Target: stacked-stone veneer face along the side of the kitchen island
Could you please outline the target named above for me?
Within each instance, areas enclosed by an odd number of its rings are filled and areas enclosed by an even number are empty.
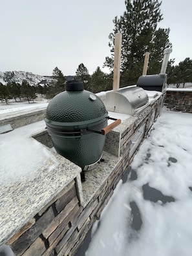
[[[76,255],[87,232],[94,221],[100,218],[101,211],[105,208],[116,185],[138,150],[137,148],[131,158],[129,157],[131,138],[145,123],[142,138],[144,140],[152,123],[160,114],[163,98],[161,96],[151,105],[150,111],[141,122],[133,118],[129,127],[119,135],[120,150],[114,152],[114,155],[120,156],[120,161],[87,205],[84,207],[81,205],[76,179],[72,180],[47,206],[6,242],[16,255]],[[112,136],[115,135],[112,132]],[[109,140],[110,136],[109,133]]]

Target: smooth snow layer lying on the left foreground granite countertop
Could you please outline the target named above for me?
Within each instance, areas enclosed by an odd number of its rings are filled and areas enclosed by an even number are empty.
[[[45,122],[40,121],[0,134],[0,182],[16,181],[21,176],[32,175],[47,161],[57,160],[41,143],[32,138],[41,133]]]

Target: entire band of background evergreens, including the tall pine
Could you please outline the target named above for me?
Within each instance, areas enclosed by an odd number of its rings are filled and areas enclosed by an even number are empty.
[[[85,90],[94,93],[112,89],[112,69],[114,63],[114,37],[115,34],[122,33],[122,54],[120,68],[120,87],[134,85],[138,77],[142,74],[145,52],[150,53],[147,74],[159,74],[164,58],[164,49],[173,47],[169,41],[169,28],[160,28],[159,23],[163,16],[160,10],[162,2],[158,0],[125,0],[125,12],[120,17],[114,17],[114,29],[109,34],[109,47],[111,56],[105,58],[103,67],[108,67],[110,72],[102,72],[100,67],[89,74],[89,70],[83,63],[78,66],[74,79],[83,81]],[[184,59],[178,65],[174,65],[175,60],[171,59],[167,67],[167,83],[191,82],[190,58]],[[23,81],[22,85],[0,85],[0,99],[18,95],[29,100],[34,100],[35,92],[45,94],[48,99],[52,98],[64,90],[67,76],[56,67],[52,73],[53,81],[44,87],[28,87]],[[16,86],[19,88],[16,90]],[[18,97],[18,96],[17,96]]]

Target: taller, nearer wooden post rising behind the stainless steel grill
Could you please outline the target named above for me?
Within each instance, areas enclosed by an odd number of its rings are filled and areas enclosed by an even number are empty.
[[[114,91],[120,88],[120,62],[122,51],[122,34],[116,33],[114,36],[114,71],[113,71],[113,87]]]

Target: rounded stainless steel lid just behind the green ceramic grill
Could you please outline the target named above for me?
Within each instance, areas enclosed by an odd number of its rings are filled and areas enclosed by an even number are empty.
[[[148,95],[140,87],[125,87],[106,93],[107,111],[133,115],[147,105],[149,105]]]

